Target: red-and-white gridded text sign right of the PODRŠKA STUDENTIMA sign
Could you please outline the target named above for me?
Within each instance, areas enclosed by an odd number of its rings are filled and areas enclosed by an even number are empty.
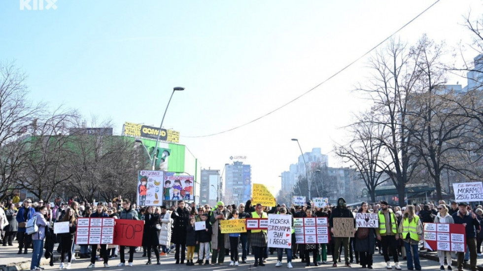
[[[319,243],[330,241],[327,217],[294,218],[295,242],[299,244]]]

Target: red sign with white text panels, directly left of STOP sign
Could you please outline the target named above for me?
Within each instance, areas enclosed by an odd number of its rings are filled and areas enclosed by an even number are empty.
[[[58,223],[59,222],[55,224],[58,224]],[[63,222],[60,222],[60,223],[63,223]],[[55,227],[55,224],[54,224],[54,227]],[[67,224],[67,228],[69,228],[69,224]],[[114,237],[114,218],[81,217],[77,219],[77,230],[75,234],[76,244],[112,244],[113,237]]]

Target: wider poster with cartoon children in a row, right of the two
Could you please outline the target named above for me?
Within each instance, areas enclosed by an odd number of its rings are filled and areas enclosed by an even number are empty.
[[[166,172],[164,176],[163,199],[165,201],[194,200],[194,179],[194,176],[179,176],[173,175],[173,172]]]

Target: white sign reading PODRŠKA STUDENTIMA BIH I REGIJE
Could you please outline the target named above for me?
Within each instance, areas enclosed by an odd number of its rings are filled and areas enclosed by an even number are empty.
[[[291,248],[292,216],[286,214],[268,215],[268,246]]]

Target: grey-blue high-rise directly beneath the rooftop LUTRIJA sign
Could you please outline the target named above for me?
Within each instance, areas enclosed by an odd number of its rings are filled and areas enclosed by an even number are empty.
[[[225,166],[225,194],[226,204],[245,203],[251,198],[251,166],[236,161],[233,165]]]

